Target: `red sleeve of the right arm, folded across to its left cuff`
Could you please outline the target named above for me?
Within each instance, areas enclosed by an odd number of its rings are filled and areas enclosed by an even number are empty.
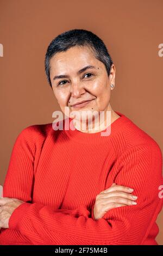
[[[111,209],[95,220],[93,207],[53,211],[25,202],[12,213],[9,228],[19,230],[35,245],[141,245],[162,208],[161,167],[156,143],[130,148],[116,161],[107,182],[114,178],[116,184],[134,188],[137,205]]]

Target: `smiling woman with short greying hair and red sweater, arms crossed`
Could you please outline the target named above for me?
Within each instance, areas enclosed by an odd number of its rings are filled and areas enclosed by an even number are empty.
[[[83,29],[62,33],[45,69],[68,118],[18,135],[0,199],[1,244],[157,245],[161,150],[112,109],[115,66],[103,41]]]

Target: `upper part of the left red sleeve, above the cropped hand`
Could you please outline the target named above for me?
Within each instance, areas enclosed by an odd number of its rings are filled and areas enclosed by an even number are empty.
[[[33,126],[23,129],[12,148],[7,175],[3,186],[3,197],[12,197],[30,202],[34,184],[35,143]]]

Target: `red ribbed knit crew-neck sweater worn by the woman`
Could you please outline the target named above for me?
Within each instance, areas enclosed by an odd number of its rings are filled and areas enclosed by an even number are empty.
[[[23,200],[2,229],[1,245],[158,245],[162,208],[159,145],[120,112],[111,134],[23,129],[12,149],[3,197]],[[64,125],[70,118],[64,120]],[[137,205],[95,220],[97,194],[113,182],[134,188]]]

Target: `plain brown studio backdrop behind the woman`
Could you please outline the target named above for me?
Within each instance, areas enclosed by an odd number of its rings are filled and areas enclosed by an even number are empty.
[[[60,109],[43,62],[49,42],[74,28],[92,31],[108,47],[116,66],[112,108],[163,148],[162,9],[162,0],[0,0],[1,185],[18,133],[32,124],[53,122],[53,111]],[[162,217],[163,210],[157,220],[160,245]]]

